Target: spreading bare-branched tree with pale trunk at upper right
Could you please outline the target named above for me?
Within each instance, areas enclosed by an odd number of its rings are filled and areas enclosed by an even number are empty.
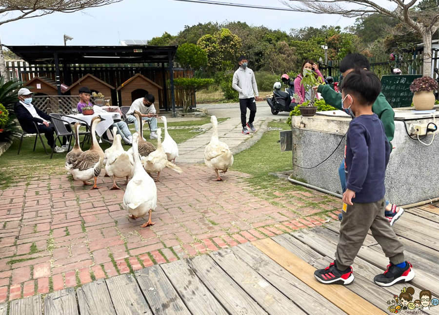
[[[432,37],[439,29],[437,0],[388,0],[393,8],[379,5],[379,0],[280,0],[296,12],[338,14],[348,18],[382,14],[399,20],[407,29],[415,30],[424,42],[423,75],[431,76]]]

